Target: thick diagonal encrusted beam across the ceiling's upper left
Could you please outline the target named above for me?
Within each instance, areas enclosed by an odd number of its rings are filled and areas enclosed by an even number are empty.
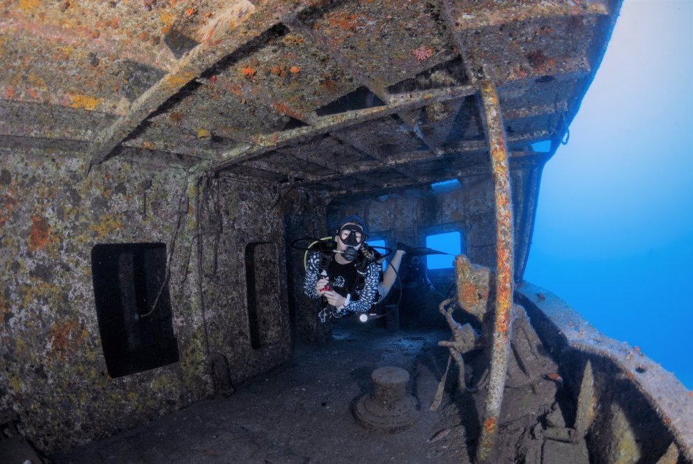
[[[205,41],[180,58],[163,79],[132,103],[127,115],[118,118],[96,138],[95,145],[90,150],[90,166],[109,159],[114,149],[130,136],[132,131],[202,72],[221,58],[258,38],[282,17],[295,14],[295,5],[290,1],[268,0],[256,3],[261,3],[263,8],[253,6],[245,0],[236,0],[212,19],[206,28]],[[235,24],[233,29],[228,28],[231,18]]]

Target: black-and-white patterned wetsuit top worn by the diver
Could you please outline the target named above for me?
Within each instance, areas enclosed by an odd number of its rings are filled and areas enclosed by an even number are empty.
[[[303,282],[303,290],[311,298],[320,298],[316,290],[316,282],[320,280],[318,265],[320,264],[320,252],[311,253],[306,266],[306,280]],[[341,296],[351,294],[351,301],[345,310],[353,312],[367,312],[371,306],[377,303],[377,285],[379,282],[380,266],[376,262],[368,263],[366,275],[361,280],[362,285],[355,285],[359,280],[356,271],[357,262],[339,264],[332,259],[325,271],[329,278],[329,285]]]

